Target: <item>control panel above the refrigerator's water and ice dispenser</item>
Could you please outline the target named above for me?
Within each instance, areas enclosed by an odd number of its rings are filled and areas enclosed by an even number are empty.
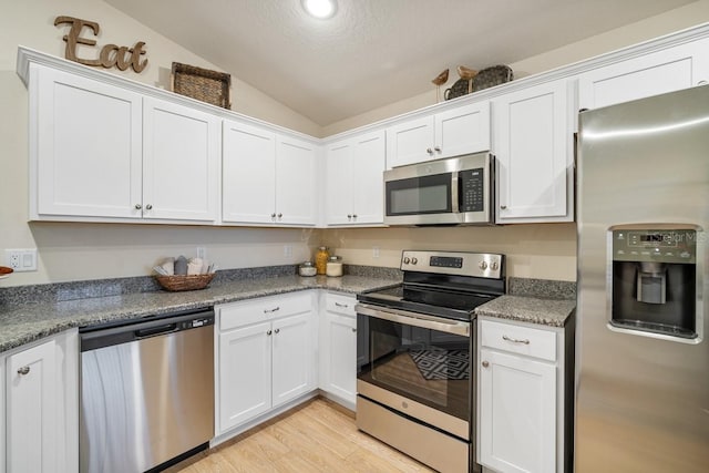
[[[697,261],[697,238],[693,229],[614,229],[613,259],[616,261]]]

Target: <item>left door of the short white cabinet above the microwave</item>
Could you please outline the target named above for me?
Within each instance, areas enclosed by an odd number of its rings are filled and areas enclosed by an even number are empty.
[[[433,116],[411,120],[387,130],[387,168],[433,160]]]

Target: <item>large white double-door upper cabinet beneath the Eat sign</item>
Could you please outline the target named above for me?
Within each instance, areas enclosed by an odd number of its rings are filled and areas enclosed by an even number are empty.
[[[217,117],[63,71],[32,71],[32,219],[217,218]]]

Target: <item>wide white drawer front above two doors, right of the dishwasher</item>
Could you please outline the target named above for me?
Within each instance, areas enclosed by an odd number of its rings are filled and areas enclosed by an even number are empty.
[[[312,310],[310,291],[226,304],[218,307],[219,330],[229,330],[310,310]]]

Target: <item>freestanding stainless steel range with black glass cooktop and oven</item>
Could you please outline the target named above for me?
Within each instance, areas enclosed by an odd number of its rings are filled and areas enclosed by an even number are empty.
[[[441,472],[475,463],[475,307],[503,255],[402,253],[403,284],[357,296],[357,426]]]

